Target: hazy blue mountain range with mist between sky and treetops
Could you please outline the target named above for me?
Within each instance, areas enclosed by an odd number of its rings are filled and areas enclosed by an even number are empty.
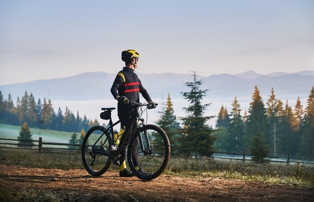
[[[182,98],[181,92],[189,89],[185,82],[192,82],[191,74],[136,73],[144,88],[152,98],[161,98],[162,95],[171,94],[172,98]],[[95,100],[111,99],[110,88],[116,74],[105,72],[86,72],[71,77],[37,80],[26,83],[17,83],[0,86],[5,99],[11,93],[13,99],[22,97],[27,90],[35,98],[50,98],[51,100]],[[255,85],[262,96],[268,96],[271,87],[276,96],[291,97],[307,96],[314,86],[314,71],[301,71],[296,73],[275,72],[267,75],[253,71],[241,74],[219,74],[211,76],[198,75],[202,79],[202,89],[209,89],[208,98],[224,99],[237,97],[250,98]]]

